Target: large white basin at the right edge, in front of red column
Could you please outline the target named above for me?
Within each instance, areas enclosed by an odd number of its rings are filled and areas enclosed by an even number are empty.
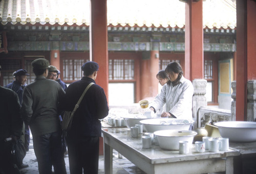
[[[215,123],[223,138],[230,141],[256,141],[256,122],[252,121],[222,121]]]

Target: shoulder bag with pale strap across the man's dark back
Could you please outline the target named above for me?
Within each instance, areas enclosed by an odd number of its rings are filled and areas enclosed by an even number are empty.
[[[80,102],[82,101],[82,98],[84,96],[84,94],[86,94],[87,90],[91,87],[91,85],[93,85],[94,83],[91,82],[87,88],[83,91],[81,97],[79,98],[78,102],[76,103],[75,107],[74,107],[74,110],[73,111],[65,111],[64,112],[64,115],[63,115],[63,120],[62,120],[62,123],[61,123],[61,128],[62,130],[66,130],[68,131],[70,128],[71,128],[71,125],[72,125],[72,120],[73,120],[73,117],[74,117],[74,114],[77,110],[77,108],[79,107],[79,104]]]

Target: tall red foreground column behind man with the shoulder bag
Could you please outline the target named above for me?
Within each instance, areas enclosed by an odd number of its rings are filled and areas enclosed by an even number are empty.
[[[109,56],[106,0],[91,0],[90,60],[99,64],[96,83],[109,98]]]

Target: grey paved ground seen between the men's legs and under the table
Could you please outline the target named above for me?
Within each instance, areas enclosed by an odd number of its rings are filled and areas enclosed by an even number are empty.
[[[67,173],[70,174],[69,171],[69,158],[65,156],[66,169]],[[25,156],[23,163],[28,164],[28,168],[23,168],[20,170],[22,174],[38,174],[38,165],[37,160],[34,154],[33,143],[30,140],[29,151]],[[104,173],[104,157],[99,157],[99,174]],[[118,152],[113,150],[113,173],[114,174],[144,174],[142,170],[140,170],[137,166],[131,163],[126,158],[118,158]]]

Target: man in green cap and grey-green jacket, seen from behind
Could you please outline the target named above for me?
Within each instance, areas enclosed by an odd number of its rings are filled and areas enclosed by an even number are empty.
[[[47,79],[49,61],[44,58],[32,62],[35,81],[24,88],[20,113],[29,124],[40,174],[66,174],[61,149],[61,128],[58,104],[65,95],[55,80]]]

